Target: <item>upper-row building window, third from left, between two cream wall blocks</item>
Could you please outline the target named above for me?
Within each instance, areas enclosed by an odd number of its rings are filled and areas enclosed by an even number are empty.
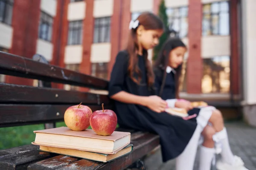
[[[78,45],[82,43],[83,37],[83,22],[79,21],[70,21],[68,28],[68,45]]]

